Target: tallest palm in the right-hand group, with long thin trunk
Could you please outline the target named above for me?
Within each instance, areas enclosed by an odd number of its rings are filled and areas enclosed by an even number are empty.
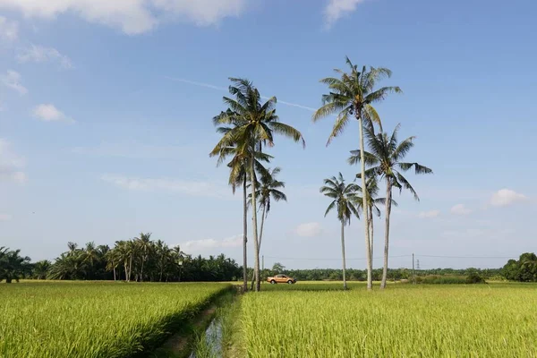
[[[350,72],[336,69],[334,71],[337,72],[337,75],[340,76],[340,78],[328,77],[320,80],[322,83],[328,85],[329,93],[322,96],[323,106],[313,114],[312,119],[313,122],[317,122],[320,118],[337,114],[336,124],[334,124],[332,132],[328,137],[328,145],[330,141],[344,132],[345,126],[354,116],[354,118],[358,120],[358,127],[360,129],[360,149],[363,151],[363,122],[365,122],[368,127],[372,126],[373,123],[380,125],[379,115],[372,105],[384,99],[389,92],[400,92],[401,90],[398,87],[382,87],[379,90],[375,90],[378,81],[391,76],[391,71],[387,68],[370,67],[367,69],[363,66],[362,71],[360,72],[358,66],[353,64],[348,57],[346,57],[346,64],[349,65]],[[362,163],[363,161],[364,159],[362,158]],[[362,165],[362,188],[366,187],[364,172],[365,166]],[[364,192],[362,197],[362,208],[365,218],[364,232],[367,257],[367,288],[371,290],[372,263],[369,239],[369,215],[367,212],[367,192]]]

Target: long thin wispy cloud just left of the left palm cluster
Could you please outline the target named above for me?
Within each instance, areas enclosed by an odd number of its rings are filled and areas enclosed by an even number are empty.
[[[231,191],[215,183],[189,182],[175,179],[130,178],[123,175],[102,175],[101,179],[122,189],[141,192],[175,192],[192,196],[231,198]]]

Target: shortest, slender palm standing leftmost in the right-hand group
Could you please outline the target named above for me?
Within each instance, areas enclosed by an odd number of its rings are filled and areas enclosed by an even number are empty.
[[[355,183],[345,184],[345,179],[341,173],[339,173],[338,177],[332,176],[330,179],[325,179],[324,186],[320,187],[320,192],[333,199],[328,205],[325,217],[332,209],[337,208],[337,219],[341,222],[341,256],[343,259],[343,288],[345,290],[347,288],[345,277],[345,225],[351,223],[351,217],[359,217],[358,209],[354,205],[359,199],[358,190],[359,187]]]

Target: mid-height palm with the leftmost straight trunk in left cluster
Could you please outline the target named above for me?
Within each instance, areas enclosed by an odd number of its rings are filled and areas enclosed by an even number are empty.
[[[228,112],[231,114],[231,110],[228,109]],[[231,131],[231,128],[223,126],[218,127],[217,132],[226,134],[226,132]],[[214,157],[216,154],[210,153],[210,157]],[[251,158],[248,148],[241,148],[238,145],[234,144],[220,149],[218,152],[218,161],[217,166],[222,164],[227,157],[233,157],[231,161],[227,164],[229,167],[229,184],[233,189],[233,193],[238,186],[243,186],[243,292],[246,292],[248,289],[248,261],[247,261],[247,243],[248,243],[248,203],[247,203],[247,186],[249,181],[249,160]],[[269,162],[272,158],[266,153],[261,153],[259,151],[254,153],[256,158],[254,166],[256,170],[260,173],[265,173],[267,170],[261,164],[263,162]]]

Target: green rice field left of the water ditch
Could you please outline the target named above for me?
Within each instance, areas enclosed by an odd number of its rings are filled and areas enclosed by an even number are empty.
[[[0,286],[0,357],[128,357],[160,345],[226,284]]]

